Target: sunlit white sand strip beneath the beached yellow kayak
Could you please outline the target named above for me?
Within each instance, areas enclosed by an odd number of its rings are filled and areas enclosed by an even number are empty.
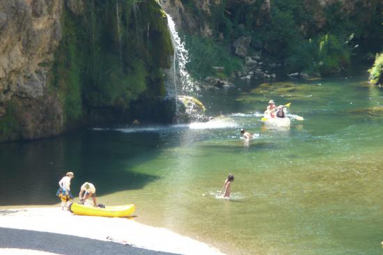
[[[96,240],[117,241],[176,254],[222,254],[203,242],[163,228],[134,222],[134,219],[78,216],[61,208],[7,210],[0,216],[0,227],[76,235]],[[1,254],[3,251],[0,249]]]

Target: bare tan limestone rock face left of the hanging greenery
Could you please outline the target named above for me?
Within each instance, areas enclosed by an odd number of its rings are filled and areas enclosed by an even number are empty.
[[[54,126],[61,125],[60,111],[50,107],[52,97],[50,100],[43,98],[47,97],[47,72],[61,40],[62,3],[62,0],[0,1],[0,121],[8,111],[8,102],[12,100],[17,105],[17,114],[9,118],[22,118],[24,113],[29,112],[30,120],[40,125],[44,120],[33,116],[33,109],[42,107],[54,111]],[[29,133],[31,125],[23,125],[19,118],[15,122],[19,123],[22,133]],[[44,136],[58,132],[45,130],[46,127],[41,125],[38,132],[46,132]],[[3,130],[7,129],[4,127]],[[7,138],[1,136],[1,139]]]

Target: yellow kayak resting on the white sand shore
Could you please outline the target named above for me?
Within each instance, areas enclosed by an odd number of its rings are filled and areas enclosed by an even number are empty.
[[[88,215],[88,216],[103,216],[103,217],[127,217],[133,214],[136,210],[134,204],[126,206],[105,206],[105,208],[98,208],[93,206],[83,206],[79,203],[72,203],[69,210],[75,215]]]

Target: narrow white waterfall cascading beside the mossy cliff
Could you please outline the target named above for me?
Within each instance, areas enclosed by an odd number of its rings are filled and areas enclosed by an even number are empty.
[[[190,95],[196,91],[196,86],[192,82],[189,72],[186,70],[189,54],[185,48],[185,43],[182,42],[178,32],[175,29],[175,23],[171,16],[166,14],[168,20],[169,31],[171,33],[171,42],[174,48],[174,55],[171,70],[169,70],[167,90],[169,95]]]

